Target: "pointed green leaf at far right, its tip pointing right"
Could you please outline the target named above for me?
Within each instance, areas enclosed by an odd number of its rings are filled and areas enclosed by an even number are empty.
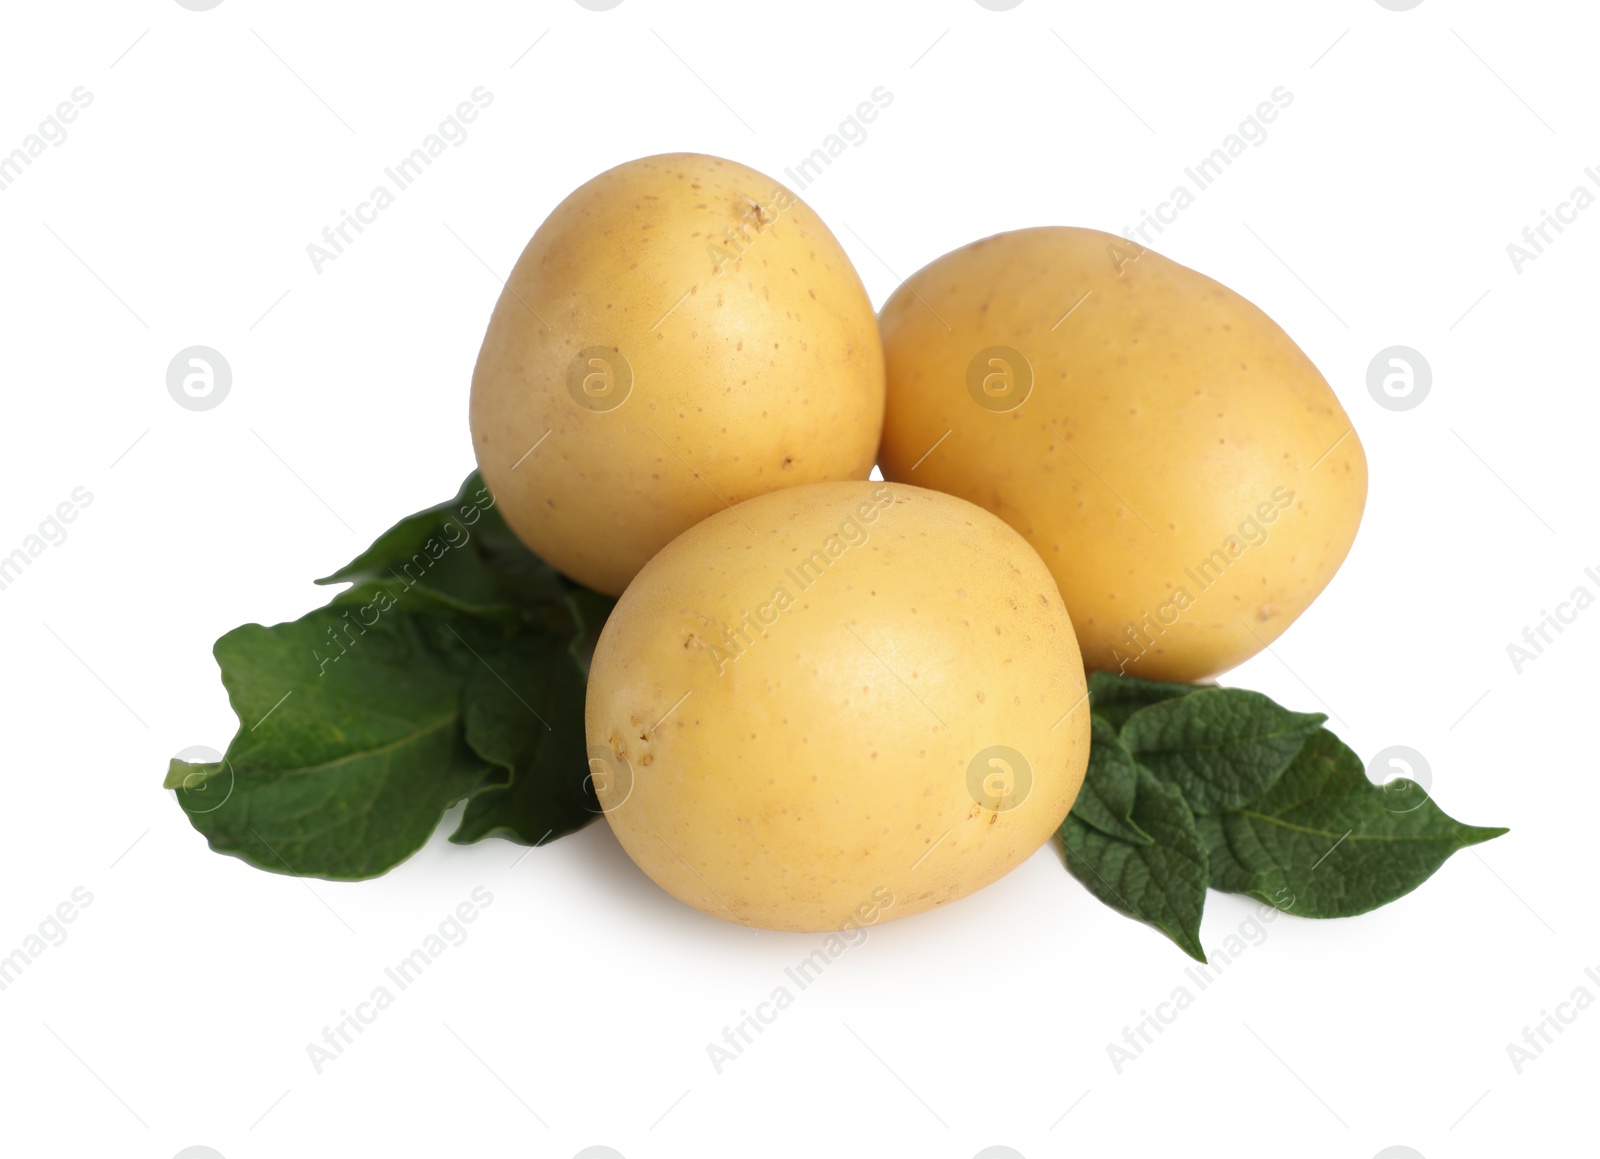
[[[1413,781],[1373,784],[1318,730],[1259,800],[1202,820],[1211,885],[1302,917],[1349,917],[1427,880],[1456,850],[1506,829],[1451,820]]]

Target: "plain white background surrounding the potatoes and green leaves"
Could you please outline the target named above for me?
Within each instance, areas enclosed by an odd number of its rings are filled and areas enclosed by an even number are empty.
[[[693,11],[686,11],[686,10]],[[1507,243],[1600,166],[1589,5],[6,5],[0,152],[93,104],[0,192],[0,554],[93,503],[0,591],[0,954],[93,903],[0,993],[0,1151],[568,1157],[1523,1154],[1592,1105],[1600,1012],[1518,1074],[1507,1044],[1600,996],[1589,610],[1600,208],[1517,272]],[[531,45],[531,48],[530,48]],[[336,263],[306,245],[475,86],[470,138]],[[1512,832],[1350,920],[1283,917],[1122,1073],[1107,1044],[1192,981],[1042,850],[875,930],[717,1074],[706,1045],[819,938],[752,935],[651,885],[605,824],[435,840],[366,884],[213,855],[168,757],[235,722],[211,642],[472,467],[496,275],[573,187],[701,150],[781,176],[875,86],[805,199],[875,303],[957,245],[1120,232],[1282,85],[1293,106],[1155,240],[1310,354],[1371,496],[1344,570],[1226,682],[1419,749],[1454,816]],[[166,365],[206,344],[232,394]],[[1421,351],[1427,400],[1366,367]],[[475,887],[493,904],[318,1074],[307,1044]],[[1251,917],[1213,893],[1210,948]],[[1586,1130],[1587,1133],[1587,1130]],[[1576,1154],[1578,1141],[1552,1153]]]

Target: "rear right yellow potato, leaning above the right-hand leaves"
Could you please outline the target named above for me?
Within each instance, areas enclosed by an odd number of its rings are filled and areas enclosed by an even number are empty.
[[[1091,229],[939,258],[883,306],[888,479],[960,495],[1050,565],[1091,669],[1197,680],[1344,562],[1366,458],[1272,319]]]

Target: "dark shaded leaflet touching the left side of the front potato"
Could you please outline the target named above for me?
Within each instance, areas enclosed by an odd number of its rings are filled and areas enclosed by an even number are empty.
[[[462,690],[467,743],[509,772],[467,802],[453,842],[544,845],[600,815],[584,746],[584,672],[557,636],[485,647]]]

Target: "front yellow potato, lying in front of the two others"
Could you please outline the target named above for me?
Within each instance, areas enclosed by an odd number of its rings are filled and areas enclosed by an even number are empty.
[[[902,483],[741,503],[638,573],[595,648],[589,757],[674,896],[776,930],[954,901],[1066,818],[1083,663],[1003,522]]]

